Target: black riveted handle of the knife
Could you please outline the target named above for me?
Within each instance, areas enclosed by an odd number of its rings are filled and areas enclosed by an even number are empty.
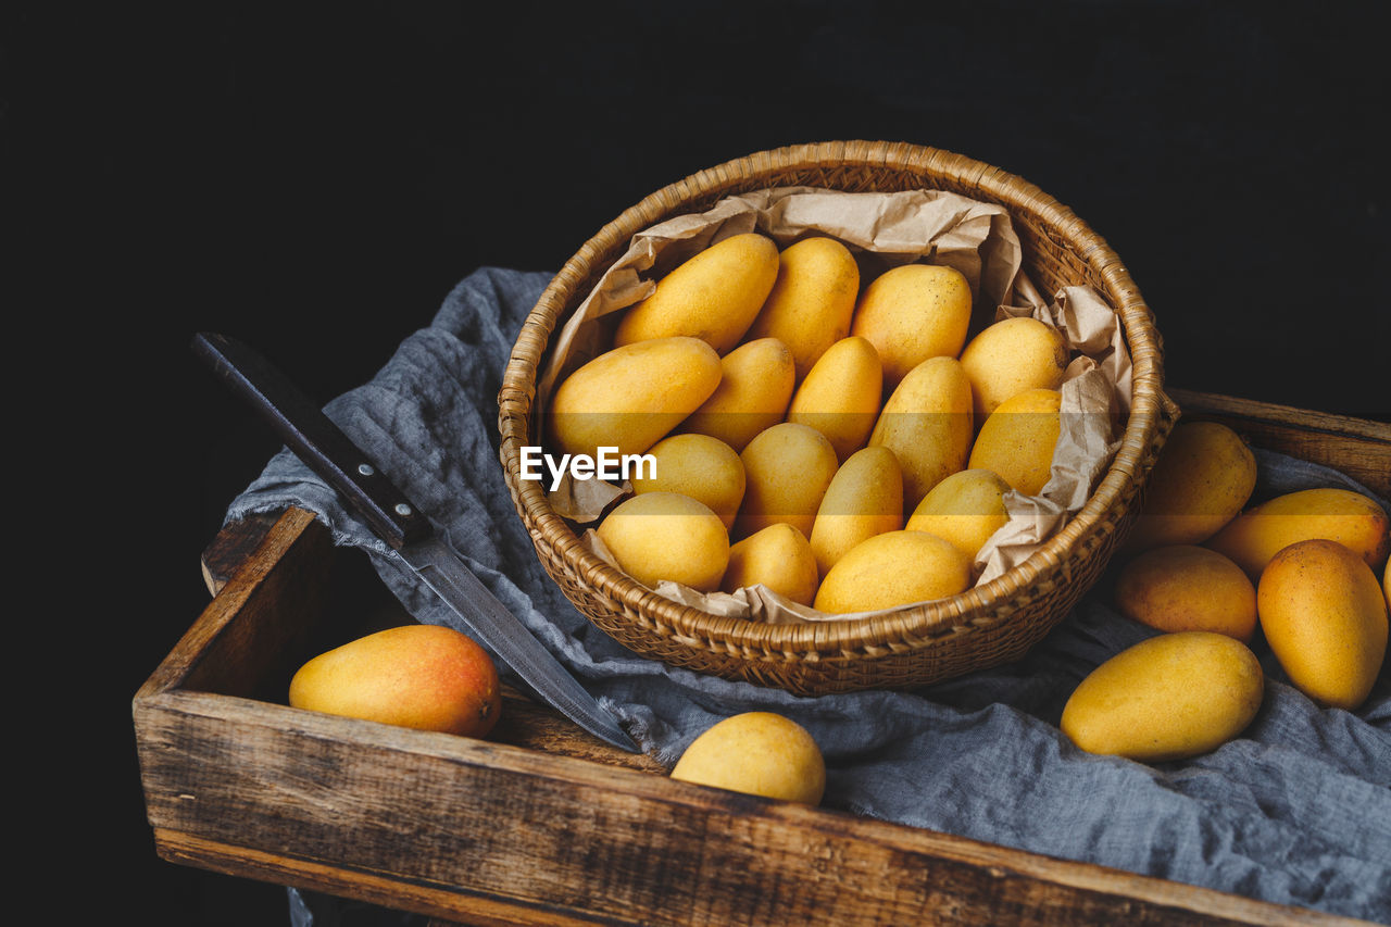
[[[268,420],[309,469],[324,479],[392,548],[421,540],[430,522],[381,469],[270,360],[235,338],[203,331],[193,354]]]

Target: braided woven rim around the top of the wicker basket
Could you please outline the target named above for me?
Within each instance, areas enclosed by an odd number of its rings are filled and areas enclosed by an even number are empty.
[[[1103,295],[1121,317],[1132,360],[1129,418],[1120,448],[1081,511],[1028,560],[992,580],[950,599],[919,603],[874,618],[771,625],[714,615],[659,596],[611,566],[580,541],[569,522],[551,508],[537,483],[519,479],[520,447],[529,441],[536,398],[534,376],[545,356],[549,335],[562,322],[559,317],[549,322],[538,319],[538,313],[542,306],[549,305],[573,309],[586,295],[577,294],[576,287],[606,269],[598,266],[597,260],[615,245],[626,246],[637,231],[679,214],[682,203],[702,195],[727,195],[732,191],[721,191],[736,182],[740,189],[758,189],[773,185],[759,184],[759,178],[773,180],[791,170],[828,164],[933,174],[961,188],[979,191],[988,202],[1042,219],[1059,241],[1082,258],[1104,281],[1107,292]],[[638,624],[669,626],[669,636],[677,643],[734,657],[775,660],[819,660],[912,649],[928,640],[961,633],[974,625],[1007,619],[1007,615],[1000,614],[1000,604],[1028,590],[1040,572],[1056,568],[1074,544],[1100,526],[1103,516],[1136,479],[1146,448],[1155,441],[1166,413],[1171,412],[1173,404],[1163,394],[1160,358],[1161,347],[1149,308],[1120,258],[1071,209],[1036,185],[983,161],[908,142],[833,141],[789,145],[732,159],[668,184],[626,209],[580,246],[542,291],[513,347],[498,394],[502,433],[499,457],[515,502],[524,519],[533,523],[533,540],[552,548],[594,592],[630,610]],[[985,615],[989,608],[995,614]]]

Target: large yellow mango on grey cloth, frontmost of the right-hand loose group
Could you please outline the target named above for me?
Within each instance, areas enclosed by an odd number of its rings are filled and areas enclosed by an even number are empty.
[[[1096,667],[1072,690],[1060,728],[1088,753],[1139,763],[1210,753],[1252,722],[1264,697],[1260,661],[1210,631],[1159,635]]]

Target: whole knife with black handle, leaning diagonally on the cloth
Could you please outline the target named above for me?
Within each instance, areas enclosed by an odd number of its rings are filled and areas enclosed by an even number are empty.
[[[193,354],[271,425],[309,469],[338,491],[410,571],[536,693],[590,734],[641,749],[459,558],[448,537],[307,395],[248,345],[193,337]]]

